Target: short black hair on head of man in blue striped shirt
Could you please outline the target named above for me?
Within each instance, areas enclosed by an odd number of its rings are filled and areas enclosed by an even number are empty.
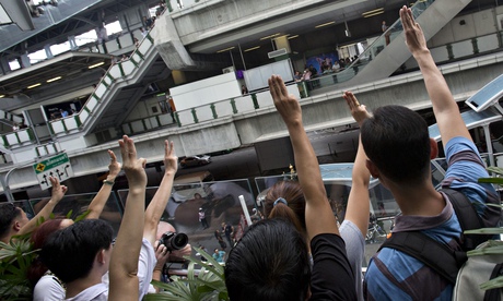
[[[430,136],[419,113],[401,106],[381,107],[365,120],[361,136],[369,159],[391,181],[412,183],[429,177]]]

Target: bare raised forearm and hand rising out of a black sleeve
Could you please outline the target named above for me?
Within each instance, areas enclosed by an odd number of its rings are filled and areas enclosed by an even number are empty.
[[[269,88],[278,112],[290,133],[299,182],[306,200],[305,220],[309,240],[319,233],[339,234],[327,200],[319,165],[302,123],[302,110],[295,96],[289,95],[278,75],[269,79]]]

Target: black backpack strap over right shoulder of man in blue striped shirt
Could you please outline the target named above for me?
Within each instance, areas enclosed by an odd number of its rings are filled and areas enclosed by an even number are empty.
[[[483,228],[484,225],[477,214],[477,209],[473,204],[465,196],[465,194],[449,188],[443,188],[440,190],[445,193],[453,204],[454,212],[456,212],[459,226],[461,230],[475,230]],[[491,239],[491,236],[483,234],[461,234],[463,237],[463,249],[465,251],[475,250],[477,245]]]

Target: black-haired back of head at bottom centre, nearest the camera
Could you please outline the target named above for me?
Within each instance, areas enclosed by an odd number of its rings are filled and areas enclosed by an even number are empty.
[[[281,219],[249,227],[225,262],[231,300],[305,300],[309,279],[303,236]]]

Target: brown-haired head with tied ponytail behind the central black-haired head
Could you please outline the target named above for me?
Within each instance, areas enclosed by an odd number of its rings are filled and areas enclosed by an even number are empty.
[[[274,183],[267,192],[264,209],[268,218],[289,220],[299,231],[306,232],[305,198],[299,182],[280,181]]]

